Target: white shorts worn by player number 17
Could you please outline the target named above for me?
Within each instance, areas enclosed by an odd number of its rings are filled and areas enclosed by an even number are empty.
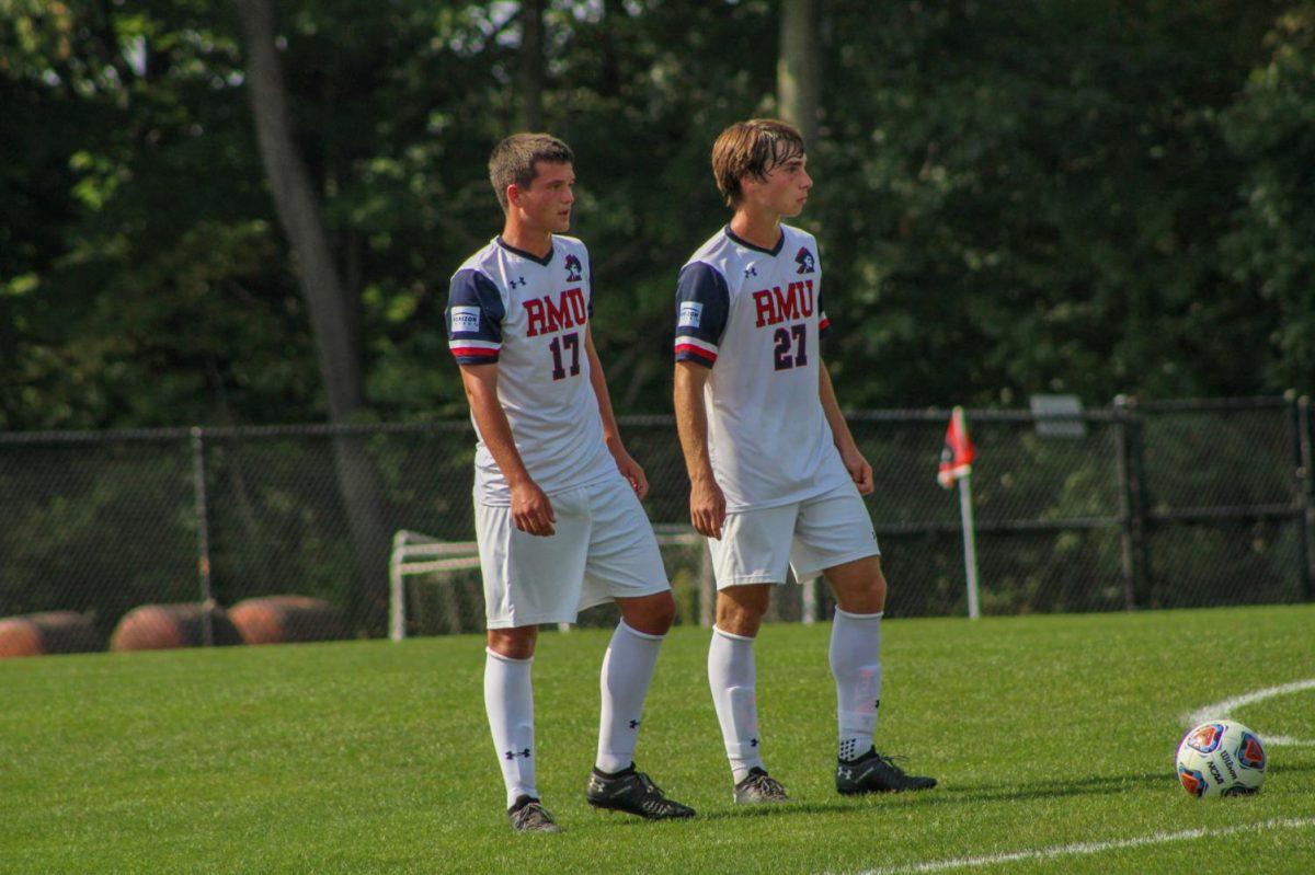
[[[619,473],[548,501],[548,537],[519,531],[508,506],[475,502],[488,628],[575,623],[594,604],[671,589],[648,516]]]

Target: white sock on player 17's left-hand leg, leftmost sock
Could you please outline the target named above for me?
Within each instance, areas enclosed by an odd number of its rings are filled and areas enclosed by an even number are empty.
[[[529,660],[513,660],[485,648],[484,708],[493,749],[506,783],[506,807],[519,796],[539,797],[534,786],[534,691]]]

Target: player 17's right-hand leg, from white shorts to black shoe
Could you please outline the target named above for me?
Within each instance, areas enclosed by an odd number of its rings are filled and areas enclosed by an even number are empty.
[[[602,658],[598,753],[585,797],[594,808],[648,820],[692,817],[693,808],[667,799],[634,762],[658,652],[676,619],[658,541],[634,490],[619,477],[592,487],[589,499],[583,603],[614,599],[621,623]]]

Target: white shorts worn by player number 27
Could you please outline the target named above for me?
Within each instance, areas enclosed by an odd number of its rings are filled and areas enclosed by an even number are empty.
[[[853,483],[780,507],[726,514],[721,540],[707,539],[717,589],[744,583],[784,583],[823,569],[881,556],[872,518]]]

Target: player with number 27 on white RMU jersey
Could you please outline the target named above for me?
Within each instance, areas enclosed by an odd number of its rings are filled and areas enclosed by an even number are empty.
[[[819,340],[822,265],[811,234],[788,225],[813,180],[800,133],[780,121],[731,125],[713,175],[734,210],[694,252],[676,292],[676,423],[694,528],[711,539],[717,625],[707,681],[738,803],[786,801],[763,765],[753,639],[786,565],[826,575],[836,598],[830,663],[838,699],[840,794],[935,787],[877,753],[886,581],[860,495],[872,466],[840,413]]]

